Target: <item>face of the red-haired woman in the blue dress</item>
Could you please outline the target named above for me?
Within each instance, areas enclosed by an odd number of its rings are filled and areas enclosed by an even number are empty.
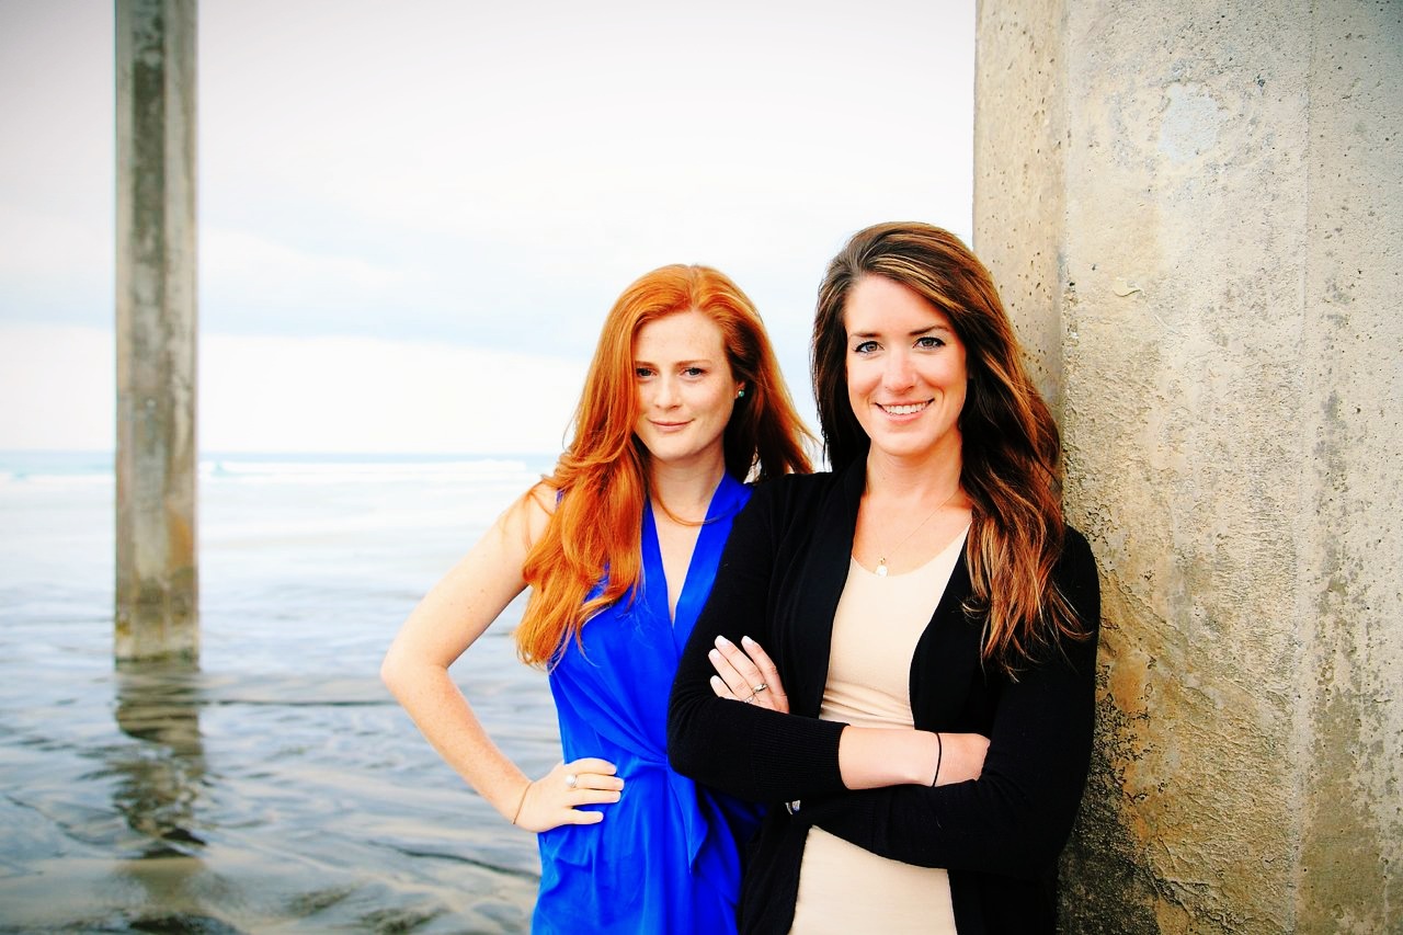
[[[638,421],[634,434],[661,463],[725,463],[723,432],[741,383],[721,327],[692,309],[648,321],[633,341]]]

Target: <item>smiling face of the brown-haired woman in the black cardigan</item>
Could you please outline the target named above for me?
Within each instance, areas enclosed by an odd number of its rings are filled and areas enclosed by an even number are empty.
[[[892,279],[866,275],[843,305],[847,402],[873,452],[960,458],[964,343],[936,306]]]

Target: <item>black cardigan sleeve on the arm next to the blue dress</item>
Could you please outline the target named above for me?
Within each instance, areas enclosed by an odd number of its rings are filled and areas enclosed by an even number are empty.
[[[839,722],[781,715],[717,698],[707,651],[717,636],[755,639],[774,654],[772,577],[784,535],[790,479],[756,489],[731,528],[711,597],[687,639],[668,705],[672,768],[752,802],[786,802],[843,790],[838,769]],[[779,668],[786,670],[780,658]],[[788,691],[791,687],[786,684]]]

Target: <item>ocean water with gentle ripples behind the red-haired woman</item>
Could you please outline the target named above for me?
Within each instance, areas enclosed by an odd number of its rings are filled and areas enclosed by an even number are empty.
[[[0,931],[518,932],[535,837],[380,685],[418,598],[544,458],[206,456],[198,670],[112,661],[111,458],[0,453]],[[455,665],[560,758],[512,605]]]

